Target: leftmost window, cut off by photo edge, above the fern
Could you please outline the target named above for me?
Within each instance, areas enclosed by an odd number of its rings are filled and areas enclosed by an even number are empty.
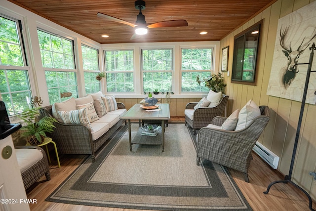
[[[0,97],[8,115],[30,108],[32,99],[19,23],[0,16]]]

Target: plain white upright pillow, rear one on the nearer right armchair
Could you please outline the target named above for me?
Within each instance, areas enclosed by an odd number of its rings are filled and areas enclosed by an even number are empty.
[[[261,112],[257,104],[254,101],[249,100],[247,104],[239,111],[235,130],[240,130],[249,126],[249,124],[260,115]]]

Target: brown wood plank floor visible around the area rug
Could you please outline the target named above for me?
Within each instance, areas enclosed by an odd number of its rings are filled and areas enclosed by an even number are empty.
[[[29,199],[37,199],[37,204],[30,204],[31,211],[135,211],[44,201],[83,162],[85,157],[85,155],[61,155],[60,169],[57,162],[53,160],[50,165],[51,180],[46,181],[45,176],[42,176],[38,183],[27,190]],[[275,184],[270,189],[269,194],[263,194],[271,182],[282,180],[283,177],[276,170],[266,165],[255,153],[253,153],[253,160],[248,172],[249,183],[244,181],[242,173],[233,169],[229,169],[229,171],[254,211],[309,210],[306,195],[291,184]],[[316,209],[316,203],[313,203],[313,208]]]

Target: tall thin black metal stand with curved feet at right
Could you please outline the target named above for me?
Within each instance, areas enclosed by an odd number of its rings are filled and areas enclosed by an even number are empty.
[[[305,81],[304,93],[303,93],[303,98],[302,98],[302,105],[301,105],[300,116],[299,116],[297,130],[296,130],[296,136],[295,136],[295,142],[294,142],[294,147],[293,147],[293,154],[292,154],[290,170],[289,170],[288,175],[285,175],[284,180],[278,180],[278,181],[274,181],[274,182],[270,183],[270,185],[267,188],[267,191],[265,191],[263,193],[264,194],[268,194],[271,186],[273,186],[276,183],[280,183],[280,182],[282,182],[282,183],[290,183],[290,184],[294,185],[294,187],[297,187],[299,190],[301,190],[303,193],[305,193],[305,195],[308,197],[308,199],[310,201],[310,205],[309,205],[310,210],[311,211],[315,211],[312,208],[313,202],[312,202],[312,198],[310,197],[310,195],[305,190],[303,190],[303,188],[301,188],[300,186],[295,184],[293,181],[291,181],[292,170],[293,170],[293,167],[294,167],[294,161],[295,161],[295,156],[296,156],[296,149],[297,149],[298,139],[300,137],[300,130],[301,130],[301,124],[302,124],[302,119],[303,119],[305,100],[306,100],[306,95],[307,95],[307,88],[308,88],[308,84],[309,84],[309,81],[310,81],[311,72],[316,72],[316,71],[311,71],[312,63],[313,63],[313,57],[314,57],[314,50],[316,50],[315,42],[312,44],[312,47],[310,47],[310,50],[312,50],[312,52],[310,54],[310,61],[309,61],[309,63],[296,64],[296,65],[302,65],[302,64],[306,65],[306,64],[308,64],[308,70],[307,70],[307,74],[306,74],[306,81]],[[294,67],[293,67],[293,69],[294,69]],[[298,71],[295,72],[295,74],[296,73],[298,73]],[[315,92],[315,94],[316,94],[316,92]]]

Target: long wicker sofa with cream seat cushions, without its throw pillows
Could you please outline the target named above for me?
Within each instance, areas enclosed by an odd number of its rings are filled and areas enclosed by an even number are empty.
[[[119,117],[126,112],[125,105],[119,102],[116,104],[117,110],[107,112],[91,123],[93,131],[83,124],[54,123],[54,132],[48,135],[56,143],[58,153],[91,154],[92,162],[95,162],[95,152],[124,123]],[[53,105],[49,105],[40,108],[40,116],[53,117],[52,107]]]

